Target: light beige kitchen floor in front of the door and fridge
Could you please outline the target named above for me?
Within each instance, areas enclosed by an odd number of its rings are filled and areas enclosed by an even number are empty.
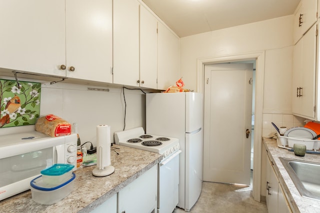
[[[186,213],[176,208],[173,213]],[[254,201],[252,188],[203,182],[198,201],[189,213],[267,213],[266,205]]]

